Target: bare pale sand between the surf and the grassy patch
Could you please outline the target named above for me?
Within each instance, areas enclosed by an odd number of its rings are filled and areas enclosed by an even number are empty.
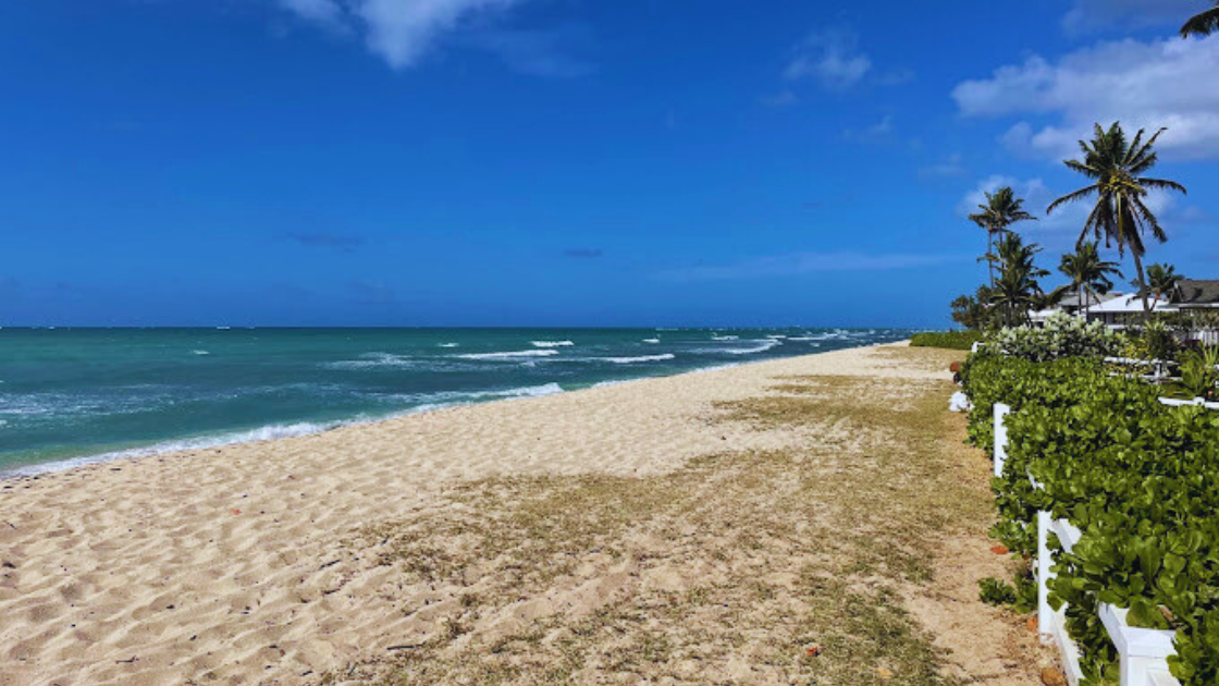
[[[947,377],[841,350],[0,482],[0,685],[295,684],[384,654],[414,620],[343,547],[362,526],[453,480],[767,447],[708,430],[711,403],[809,374]]]

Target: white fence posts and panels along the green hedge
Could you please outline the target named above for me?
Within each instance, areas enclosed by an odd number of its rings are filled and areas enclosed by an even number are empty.
[[[1174,403],[1167,403],[1174,404]],[[1219,409],[1219,404],[1214,409]],[[1004,417],[1012,408],[995,405],[995,476],[1003,475],[1007,461],[1007,426]],[[1032,485],[1040,485],[1029,476]],[[1042,642],[1056,643],[1062,654],[1067,680],[1078,686],[1082,677],[1079,666],[1079,646],[1067,634],[1067,608],[1054,612],[1050,607],[1047,582],[1053,577],[1053,553],[1050,551],[1050,533],[1053,532],[1067,552],[1079,543],[1081,532],[1065,519],[1053,519],[1050,513],[1037,513],[1037,559],[1034,575],[1037,580],[1037,631]],[[1137,629],[1126,623],[1126,610],[1100,603],[1098,614],[1109,638],[1118,649],[1121,663],[1121,686],[1180,686],[1168,670],[1168,657],[1176,654],[1173,631]]]

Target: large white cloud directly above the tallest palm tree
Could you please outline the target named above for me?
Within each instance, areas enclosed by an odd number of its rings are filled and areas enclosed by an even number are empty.
[[[1159,148],[1176,157],[1219,157],[1219,37],[1101,43],[1056,62],[1032,56],[967,81],[952,96],[965,116],[1037,116],[1003,137],[1017,151],[1075,156],[1092,125],[1168,127]]]

